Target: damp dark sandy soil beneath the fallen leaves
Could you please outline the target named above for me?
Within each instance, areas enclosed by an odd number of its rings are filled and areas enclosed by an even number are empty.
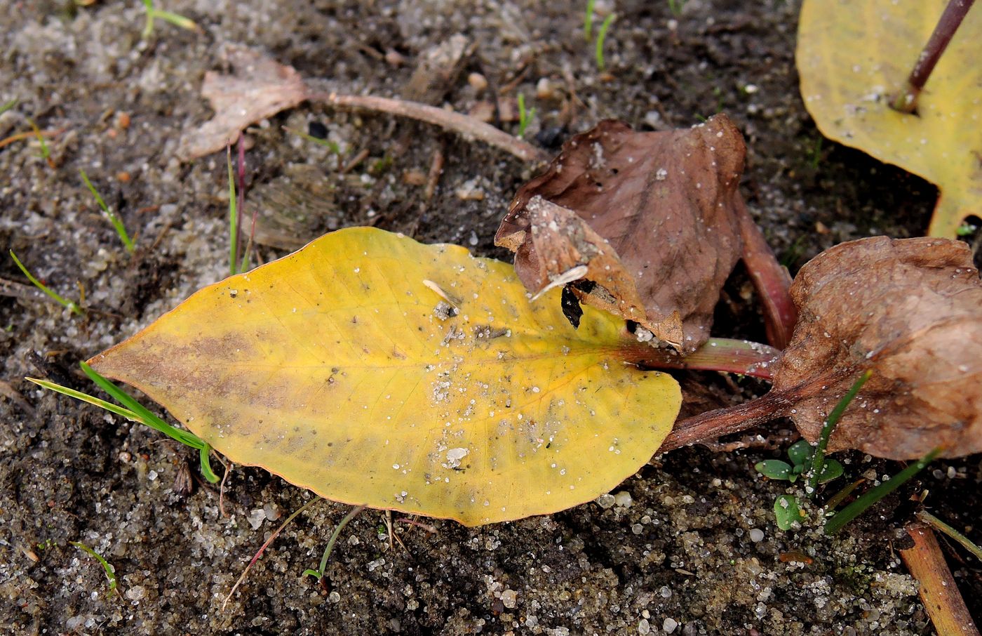
[[[0,246],[62,295],[83,293],[87,311],[82,318],[64,311],[27,286],[6,255],[0,260],[0,631],[933,632],[895,549],[913,511],[907,499],[929,491],[936,514],[958,528],[977,526],[979,457],[936,462],[835,539],[814,519],[783,532],[772,503],[785,488],[753,470],[793,440],[781,423],[753,432],[746,448],[658,456],[613,500],[548,517],[476,529],[423,520],[434,532],[397,522],[401,543],[393,547],[385,513],[363,512],[345,530],[323,588],[301,572],[316,566],[347,508],[318,501],[223,607],[253,553],[312,495],[237,467],[220,505],[219,490],[197,478],[187,449],[24,377],[91,390],[77,371],[80,360],[225,275],[225,156],[182,163],[175,151],[183,134],[210,117],[199,87],[206,71],[227,69],[229,45],[253,47],[342,92],[407,96],[419,60],[460,33],[473,47],[460,75],[422,96],[464,112],[497,97],[507,115],[523,94],[536,109],[525,137],[550,149],[604,118],[662,130],[726,112],[749,148],[743,194],[792,272],[848,239],[921,234],[936,192],[822,140],[797,92],[793,1],[599,0],[599,16],[617,13],[603,72],[584,38],[585,2],[158,4],[201,30],[158,21],[141,39],[142,4],[129,1],[78,7],[28,0],[3,12],[0,101],[18,102],[0,115],[0,139],[29,131],[28,117],[51,135],[50,165],[35,139],[0,148]],[[518,133],[511,117],[499,119]],[[343,159],[284,127],[325,135]],[[492,237],[532,174],[500,150],[429,125],[319,105],[260,122],[247,142],[246,209],[260,212],[261,260],[324,231],[364,224],[507,259]],[[437,152],[443,174],[427,199],[420,177]],[[136,234],[135,255],[98,212],[80,169]],[[740,269],[714,331],[764,338]],[[766,389],[712,374],[680,379],[690,408]],[[853,478],[899,470],[861,454],[842,459]],[[193,489],[184,493],[176,480],[189,468]],[[112,564],[119,595],[108,592],[95,559],[69,542]],[[977,614],[982,570],[945,549]]]

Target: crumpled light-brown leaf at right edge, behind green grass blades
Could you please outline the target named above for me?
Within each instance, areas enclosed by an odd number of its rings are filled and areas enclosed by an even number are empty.
[[[822,383],[791,411],[806,438],[818,438],[853,380],[873,369],[830,449],[890,459],[939,445],[947,456],[982,451],[982,282],[968,246],[934,238],[844,243],[801,268],[791,297],[799,318],[774,391]]]

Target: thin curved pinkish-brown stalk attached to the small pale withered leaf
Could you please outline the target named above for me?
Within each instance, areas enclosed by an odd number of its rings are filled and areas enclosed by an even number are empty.
[[[418,119],[419,121],[440,126],[462,135],[465,139],[475,139],[488,145],[511,152],[519,159],[530,162],[544,162],[549,155],[508,133],[452,110],[444,110],[436,106],[428,106],[414,101],[389,99],[374,95],[340,95],[336,92],[311,91],[307,94],[311,101],[323,101],[332,106],[343,108],[365,108],[379,112],[391,113],[402,117]]]

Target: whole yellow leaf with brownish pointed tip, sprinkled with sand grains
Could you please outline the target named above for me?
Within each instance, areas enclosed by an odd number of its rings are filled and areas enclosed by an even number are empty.
[[[451,309],[443,293],[457,306]],[[198,291],[96,356],[233,461],[329,499],[477,525],[568,508],[650,459],[681,393],[624,322],[510,264],[371,228]]]

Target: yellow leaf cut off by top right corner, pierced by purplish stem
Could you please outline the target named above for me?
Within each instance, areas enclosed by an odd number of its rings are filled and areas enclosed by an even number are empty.
[[[928,233],[955,237],[982,215],[982,11],[969,11],[918,102],[890,107],[948,0],[805,0],[801,95],[822,134],[894,163],[941,191]]]

